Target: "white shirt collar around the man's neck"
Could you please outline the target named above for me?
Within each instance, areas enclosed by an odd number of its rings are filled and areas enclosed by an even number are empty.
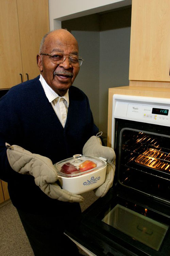
[[[45,94],[47,96],[47,99],[51,103],[55,99],[60,99],[64,98],[67,101],[67,105],[69,106],[69,95],[68,95],[68,90],[66,94],[63,97],[60,97],[45,81],[44,77],[40,74],[39,81],[41,85],[43,86],[43,89],[45,91]]]

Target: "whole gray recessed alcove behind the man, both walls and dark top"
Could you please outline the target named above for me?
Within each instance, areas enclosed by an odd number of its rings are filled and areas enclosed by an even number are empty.
[[[107,133],[108,88],[129,85],[131,7],[62,22],[85,59],[74,85],[89,98],[96,125]]]

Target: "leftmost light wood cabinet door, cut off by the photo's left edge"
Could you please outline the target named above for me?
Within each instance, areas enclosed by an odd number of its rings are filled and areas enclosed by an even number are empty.
[[[0,1],[0,89],[21,83],[22,62],[16,0]]]

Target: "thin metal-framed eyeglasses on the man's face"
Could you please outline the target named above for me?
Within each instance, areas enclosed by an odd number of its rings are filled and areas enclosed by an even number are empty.
[[[51,58],[51,61],[55,64],[62,64],[66,57],[68,57],[69,62],[71,66],[73,67],[80,67],[82,65],[82,62],[84,59],[82,59],[81,56],[79,55],[74,55],[74,54],[64,54],[64,53],[40,53],[41,55],[47,55],[49,58]]]

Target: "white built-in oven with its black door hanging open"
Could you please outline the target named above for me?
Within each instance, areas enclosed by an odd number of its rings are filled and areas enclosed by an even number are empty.
[[[113,96],[113,187],[65,234],[89,255],[170,255],[170,100]]]

